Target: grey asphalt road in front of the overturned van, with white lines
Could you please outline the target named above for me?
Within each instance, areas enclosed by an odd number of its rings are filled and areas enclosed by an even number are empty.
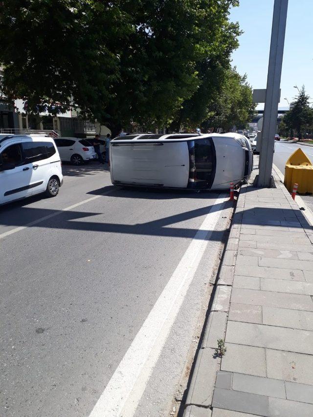
[[[0,416],[168,416],[230,203],[64,175],[57,197],[0,208]]]

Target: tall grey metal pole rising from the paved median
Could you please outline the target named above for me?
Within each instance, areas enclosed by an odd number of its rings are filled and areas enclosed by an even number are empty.
[[[288,0],[275,0],[257,186],[270,187]]]

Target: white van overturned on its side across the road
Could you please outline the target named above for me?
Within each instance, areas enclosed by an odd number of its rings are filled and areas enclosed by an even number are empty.
[[[253,154],[236,133],[134,134],[110,144],[114,185],[225,189],[247,180]]]

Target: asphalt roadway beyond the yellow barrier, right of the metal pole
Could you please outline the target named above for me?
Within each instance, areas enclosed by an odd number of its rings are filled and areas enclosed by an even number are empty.
[[[301,148],[313,162],[313,146],[299,145],[297,143],[288,142],[275,142],[273,162],[283,174],[285,173],[285,165],[288,158],[290,157],[291,153],[293,153],[298,148]],[[311,211],[313,211],[313,196],[307,195],[301,196],[301,198],[305,201],[306,205],[311,209]]]

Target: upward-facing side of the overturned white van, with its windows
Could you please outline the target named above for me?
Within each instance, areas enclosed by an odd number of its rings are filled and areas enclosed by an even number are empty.
[[[230,138],[242,138],[243,135],[238,133],[206,133],[206,134],[198,134],[198,133],[172,133],[172,134],[154,134],[154,133],[134,133],[127,136],[117,136],[116,138],[112,139],[112,142],[141,142],[141,141],[158,141],[158,142],[167,142],[167,141],[182,141],[182,140],[196,140],[196,139],[204,139],[204,138],[223,138],[223,137],[230,137]]]

